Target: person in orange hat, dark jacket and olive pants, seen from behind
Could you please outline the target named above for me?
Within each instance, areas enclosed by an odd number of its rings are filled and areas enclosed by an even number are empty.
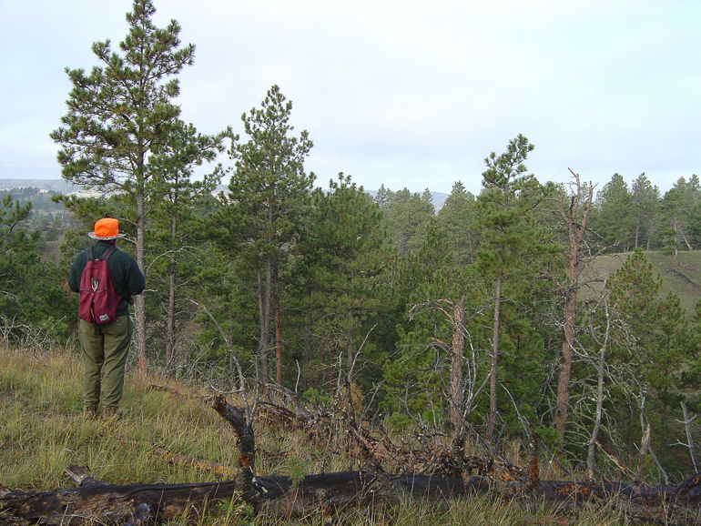
[[[119,233],[117,219],[100,219],[95,231],[88,232],[90,238],[97,239],[93,247],[93,257],[100,258],[115,240],[124,238]],[[78,254],[68,275],[68,286],[80,292],[80,279],[87,263],[86,250]],[[129,304],[133,296],[141,294],[146,281],[137,262],[126,252],[117,250],[107,259],[107,268],[112,278],[112,286],[121,299],[117,304],[116,318],[102,325],[78,319],[78,339],[83,348],[83,408],[86,415],[97,417],[99,405],[105,418],[119,417],[119,400],[124,389],[124,369],[131,333],[134,329],[129,316]],[[105,379],[101,381],[102,369]]]

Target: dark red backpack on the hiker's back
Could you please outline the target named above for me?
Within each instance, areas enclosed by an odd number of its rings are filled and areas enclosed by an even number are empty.
[[[80,277],[78,318],[88,323],[103,324],[117,316],[117,303],[121,299],[112,286],[107,259],[117,252],[114,245],[107,247],[101,258],[94,258],[93,248],[86,250],[86,267]]]

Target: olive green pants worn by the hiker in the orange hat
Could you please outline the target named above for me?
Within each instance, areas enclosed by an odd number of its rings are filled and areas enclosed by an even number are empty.
[[[117,408],[124,389],[124,368],[134,325],[122,316],[104,325],[78,320],[78,339],[83,348],[83,403],[94,408]],[[102,379],[102,369],[105,378]]]

